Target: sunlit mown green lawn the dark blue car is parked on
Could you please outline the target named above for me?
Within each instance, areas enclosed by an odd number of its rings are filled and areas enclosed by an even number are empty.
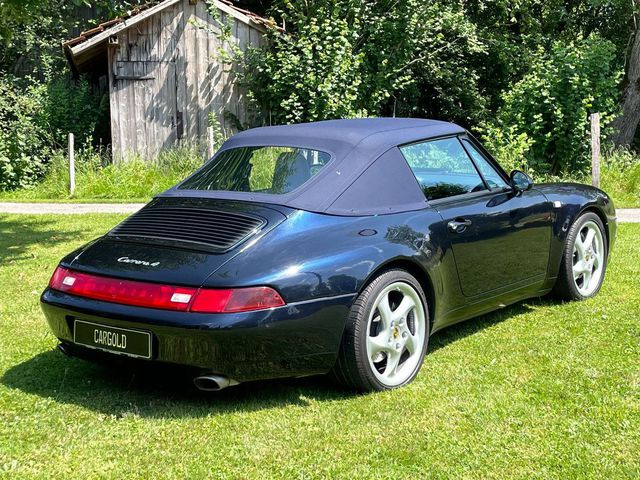
[[[596,299],[439,332],[401,390],[307,378],[201,394],[54,350],[39,293],[121,218],[0,215],[0,477],[640,476],[640,225],[621,225]]]

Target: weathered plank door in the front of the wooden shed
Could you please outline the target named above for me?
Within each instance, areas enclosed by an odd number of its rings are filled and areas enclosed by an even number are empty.
[[[120,152],[147,160],[182,137],[174,62],[118,61],[114,68],[118,95]]]

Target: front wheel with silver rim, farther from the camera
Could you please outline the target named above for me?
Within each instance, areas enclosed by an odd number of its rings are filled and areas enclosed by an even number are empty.
[[[585,300],[600,291],[607,269],[604,225],[593,212],[580,215],[569,229],[553,294],[560,300]]]

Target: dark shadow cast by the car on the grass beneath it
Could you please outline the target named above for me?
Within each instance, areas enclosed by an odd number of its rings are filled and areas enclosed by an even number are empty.
[[[453,325],[431,338],[430,350],[444,348],[546,303],[549,300],[530,300]],[[181,367],[153,364],[135,369],[105,368],[51,350],[15,365],[4,374],[1,383],[116,417],[136,414],[148,418],[195,418],[287,405],[304,407],[310,400],[335,401],[357,395],[322,376],[251,382],[215,393],[196,390],[192,378],[193,372]]]

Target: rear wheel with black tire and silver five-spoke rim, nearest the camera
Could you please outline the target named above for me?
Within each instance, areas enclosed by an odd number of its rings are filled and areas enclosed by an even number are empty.
[[[411,382],[429,343],[429,310],[420,283],[404,270],[387,270],[354,301],[331,374],[363,392]]]

